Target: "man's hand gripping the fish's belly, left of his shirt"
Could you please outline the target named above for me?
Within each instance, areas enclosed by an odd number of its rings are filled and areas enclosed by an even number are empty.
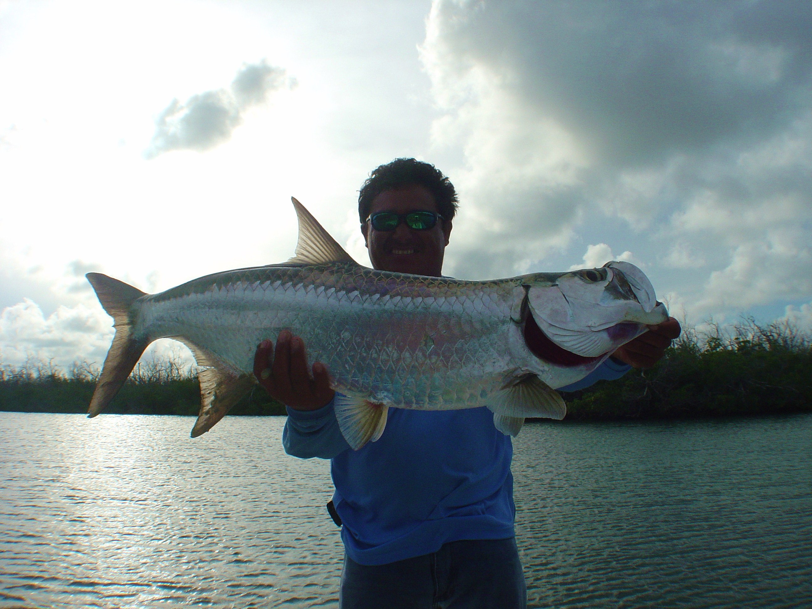
[[[324,364],[317,361],[313,377],[308,374],[304,341],[288,330],[279,333],[275,352],[270,340],[260,343],[254,353],[253,373],[274,400],[296,410],[323,408],[335,395]]]

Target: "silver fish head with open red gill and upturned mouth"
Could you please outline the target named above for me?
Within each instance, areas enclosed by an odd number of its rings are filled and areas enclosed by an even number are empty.
[[[628,262],[525,281],[525,347],[548,364],[590,368],[624,343],[666,321],[646,275]],[[541,278],[540,278],[541,279]]]

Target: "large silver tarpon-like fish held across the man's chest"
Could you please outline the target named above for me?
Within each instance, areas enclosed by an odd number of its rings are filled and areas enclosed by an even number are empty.
[[[159,294],[87,275],[115,327],[90,417],[149,343],[177,339],[206,367],[197,437],[253,387],[257,344],[288,329],[347,396],[335,413],[354,449],[381,436],[390,407],[487,406],[496,427],[516,435],[525,417],[563,418],[555,388],[667,319],[646,275],[628,262],[494,281],[372,270],[293,204],[299,241],[283,264],[207,275]]]

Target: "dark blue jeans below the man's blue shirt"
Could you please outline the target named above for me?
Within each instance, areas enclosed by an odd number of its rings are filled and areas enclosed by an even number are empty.
[[[525,609],[516,539],[448,542],[434,554],[368,566],[344,556],[339,609]]]

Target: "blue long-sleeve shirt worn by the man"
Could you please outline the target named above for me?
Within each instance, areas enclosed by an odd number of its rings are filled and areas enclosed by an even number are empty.
[[[561,391],[614,380],[628,369],[610,359]],[[513,447],[487,408],[390,408],[381,438],[358,451],[343,438],[332,402],[287,414],[285,451],[331,460],[341,538],[357,563],[387,564],[446,542],[513,536]]]

